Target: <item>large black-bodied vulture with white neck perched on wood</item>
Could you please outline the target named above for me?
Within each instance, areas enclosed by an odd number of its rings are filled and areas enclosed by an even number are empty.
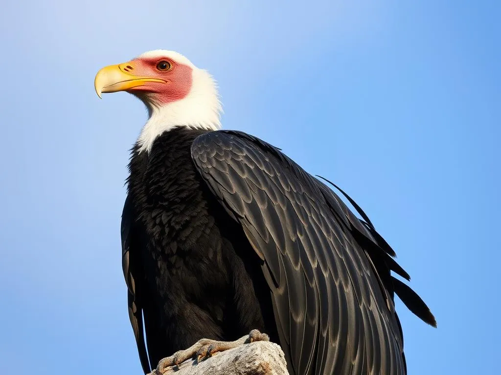
[[[257,340],[281,346],[291,375],[407,373],[395,294],[436,320],[347,193],[282,149],[222,129],[215,79],[178,52],[105,66],[94,85],[148,111],[121,221],[145,373]]]

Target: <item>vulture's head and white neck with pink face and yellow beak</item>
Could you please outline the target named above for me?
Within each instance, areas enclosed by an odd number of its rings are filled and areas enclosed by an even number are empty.
[[[94,87],[99,97],[126,91],[144,102],[149,119],[138,138],[141,150],[149,151],[158,135],[175,126],[220,128],[222,108],[214,79],[174,51],[149,51],[105,66],[96,74]]]

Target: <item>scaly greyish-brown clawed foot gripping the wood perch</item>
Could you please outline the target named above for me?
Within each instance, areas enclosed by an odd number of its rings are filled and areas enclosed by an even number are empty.
[[[197,362],[200,362],[219,351],[233,349],[244,343],[254,341],[270,341],[270,337],[266,333],[261,333],[259,330],[253,329],[249,334],[246,334],[235,341],[216,341],[208,338],[202,338],[187,349],[176,351],[173,355],[160,359],[157,368],[153,371],[153,374],[163,375],[170,369],[169,367],[177,366],[185,360],[194,358],[195,356]]]

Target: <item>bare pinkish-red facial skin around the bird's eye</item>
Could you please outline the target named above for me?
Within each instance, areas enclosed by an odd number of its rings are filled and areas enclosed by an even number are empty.
[[[160,61],[170,63],[170,69],[162,71],[157,68]],[[138,96],[141,93],[149,93],[159,104],[168,104],[181,100],[188,94],[192,82],[192,68],[180,64],[168,57],[135,58],[128,63],[121,64],[120,68],[129,74],[138,76],[159,78],[164,82],[144,82],[141,86],[127,90]]]

